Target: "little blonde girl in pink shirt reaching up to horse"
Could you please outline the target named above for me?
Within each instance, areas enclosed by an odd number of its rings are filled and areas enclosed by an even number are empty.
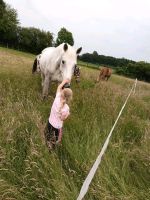
[[[70,115],[68,103],[72,99],[72,90],[63,88],[69,80],[64,80],[57,88],[49,120],[45,129],[46,143],[49,149],[60,144],[62,140],[63,122]]]

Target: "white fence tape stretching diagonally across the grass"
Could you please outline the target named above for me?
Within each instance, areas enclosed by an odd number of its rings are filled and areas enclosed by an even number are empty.
[[[126,105],[128,99],[129,99],[129,97],[130,97],[130,95],[131,95],[133,89],[134,89],[134,93],[135,93],[136,84],[137,84],[137,79],[135,80],[135,83],[133,84],[129,95],[128,95],[128,97],[126,98],[125,103],[124,103],[124,105],[122,106],[122,108],[121,108],[121,110],[120,110],[120,112],[119,112],[119,115],[118,115],[118,117],[117,117],[117,119],[116,119],[116,121],[115,121],[115,123],[114,123],[114,125],[113,125],[113,127],[112,127],[112,129],[111,129],[111,131],[110,131],[110,133],[109,133],[109,135],[108,135],[108,137],[107,137],[107,139],[106,139],[106,141],[105,141],[103,147],[102,147],[102,150],[101,150],[100,154],[98,155],[98,157],[97,157],[95,163],[93,164],[93,166],[92,166],[92,168],[91,168],[91,170],[90,170],[88,176],[86,177],[86,179],[85,179],[85,181],[84,181],[84,183],[83,183],[83,185],[82,185],[82,188],[81,188],[81,190],[80,190],[80,194],[79,194],[77,200],[82,200],[83,197],[85,196],[85,194],[87,193],[88,188],[89,188],[89,185],[90,185],[90,183],[91,183],[91,181],[92,181],[92,179],[93,179],[93,177],[94,177],[94,175],[95,175],[95,172],[96,172],[96,170],[97,170],[97,168],[98,168],[98,166],[99,166],[99,164],[100,164],[100,162],[101,162],[101,158],[102,158],[103,154],[105,153],[105,151],[106,151],[106,149],[107,149],[107,146],[108,146],[108,143],[109,143],[109,139],[110,139],[110,137],[111,137],[111,135],[112,135],[112,132],[113,132],[113,130],[114,130],[114,128],[115,128],[115,126],[116,126],[116,124],[117,124],[117,122],[118,122],[120,116],[121,116],[121,113],[122,113],[122,111],[123,111],[123,109],[124,109],[124,107],[125,107],[125,105]]]

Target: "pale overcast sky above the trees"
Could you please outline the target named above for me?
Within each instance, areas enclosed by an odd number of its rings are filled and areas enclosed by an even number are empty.
[[[65,27],[82,53],[150,62],[150,0],[4,0],[20,25],[50,31]],[[81,53],[81,54],[82,54]]]

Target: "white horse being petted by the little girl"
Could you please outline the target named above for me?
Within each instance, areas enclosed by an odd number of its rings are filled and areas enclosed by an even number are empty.
[[[60,44],[58,47],[48,47],[36,57],[39,58],[39,68],[42,77],[42,96],[48,95],[49,84],[51,81],[61,82],[64,79],[71,81],[77,63],[77,55],[82,47],[75,50],[67,43]],[[37,61],[34,61],[32,72],[36,71]]]

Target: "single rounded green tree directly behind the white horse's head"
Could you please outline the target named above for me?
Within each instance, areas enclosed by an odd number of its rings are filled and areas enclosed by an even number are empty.
[[[74,39],[72,33],[65,28],[61,28],[61,30],[58,32],[55,46],[58,46],[63,42],[68,43],[71,46],[74,45]]]

